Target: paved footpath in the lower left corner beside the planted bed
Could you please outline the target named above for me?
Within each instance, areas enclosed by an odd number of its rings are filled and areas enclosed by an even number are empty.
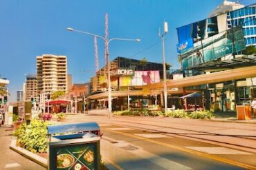
[[[39,164],[28,160],[19,153],[12,151],[10,141],[12,129],[7,127],[0,128],[0,169],[6,170],[42,170],[45,168]]]

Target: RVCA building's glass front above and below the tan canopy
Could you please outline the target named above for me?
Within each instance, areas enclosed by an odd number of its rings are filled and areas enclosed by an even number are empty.
[[[253,4],[177,28],[184,77],[256,65],[255,54],[243,53],[250,45],[256,46],[255,18]],[[207,109],[235,111],[236,105],[256,97],[256,78],[223,79],[185,89],[200,90]]]

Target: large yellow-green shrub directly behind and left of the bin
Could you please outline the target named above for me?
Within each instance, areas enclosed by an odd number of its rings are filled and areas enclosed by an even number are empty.
[[[17,136],[17,144],[33,153],[46,152],[48,147],[47,125],[51,123],[36,119],[31,120],[30,125],[21,124],[13,134]]]

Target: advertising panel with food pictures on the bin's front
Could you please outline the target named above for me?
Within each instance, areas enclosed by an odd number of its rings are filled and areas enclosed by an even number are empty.
[[[98,143],[66,146],[56,149],[57,170],[93,170],[98,167]]]

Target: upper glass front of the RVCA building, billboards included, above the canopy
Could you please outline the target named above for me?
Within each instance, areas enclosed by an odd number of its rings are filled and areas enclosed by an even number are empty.
[[[240,54],[246,46],[256,46],[256,4],[184,25],[177,32],[184,70]]]

